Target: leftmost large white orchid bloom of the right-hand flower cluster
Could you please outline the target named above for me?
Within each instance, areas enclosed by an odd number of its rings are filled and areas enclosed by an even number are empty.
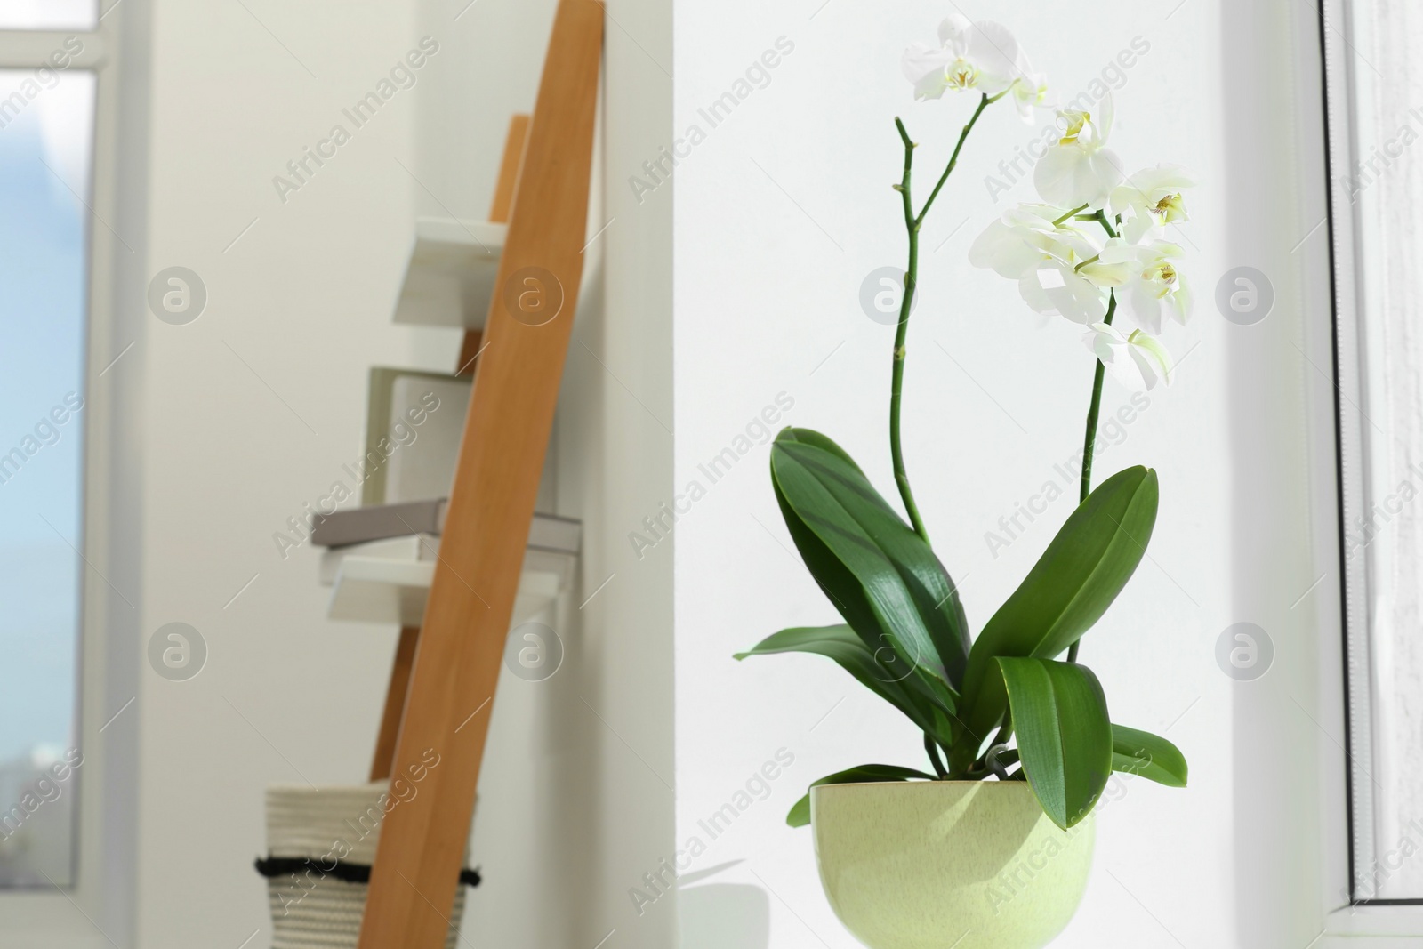
[[[969,263],[1017,280],[1023,300],[1037,313],[1094,323],[1107,314],[1103,290],[1121,286],[1130,266],[1103,259],[1103,248],[1077,228],[1054,223],[1067,213],[1047,205],[1009,211],[973,242]]]

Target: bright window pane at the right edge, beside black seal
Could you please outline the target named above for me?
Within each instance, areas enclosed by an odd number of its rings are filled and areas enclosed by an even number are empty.
[[[1325,4],[1350,888],[1423,902],[1423,10]]]

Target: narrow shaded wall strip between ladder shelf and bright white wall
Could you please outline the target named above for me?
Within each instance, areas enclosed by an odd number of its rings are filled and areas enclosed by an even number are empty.
[[[603,307],[575,326],[559,404],[561,504],[586,531],[583,662],[562,719],[581,757],[558,815],[575,925],[546,943],[571,949],[676,945],[670,905],[639,915],[626,896],[673,849],[673,551],[639,559],[626,541],[672,494],[673,205],[670,188],[639,202],[622,184],[670,139],[672,13],[666,0],[606,3],[603,192],[589,212],[589,232],[606,228],[589,249],[605,262]]]

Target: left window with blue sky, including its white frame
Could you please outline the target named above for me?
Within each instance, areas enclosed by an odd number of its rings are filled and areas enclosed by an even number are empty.
[[[34,945],[87,939],[102,915],[111,568],[94,512],[112,450],[92,408],[112,357],[120,18],[0,0],[0,926]]]

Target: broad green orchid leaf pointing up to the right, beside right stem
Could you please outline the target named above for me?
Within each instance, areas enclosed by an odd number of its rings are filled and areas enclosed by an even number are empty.
[[[1146,556],[1157,514],[1157,475],[1136,467],[1107,478],[1067,518],[969,652],[961,693],[965,724],[980,740],[1007,709],[1002,656],[1052,659],[1101,619]],[[962,743],[955,765],[978,757]]]

